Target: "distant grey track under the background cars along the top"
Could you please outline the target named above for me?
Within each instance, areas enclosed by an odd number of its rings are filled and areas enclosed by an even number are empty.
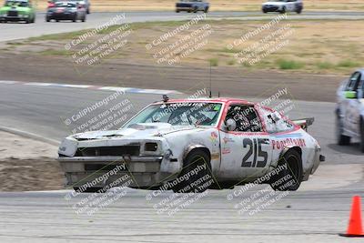
[[[64,32],[77,31],[88,28],[95,28],[103,25],[116,15],[125,12],[113,13],[92,13],[87,15],[86,23],[46,23],[45,14],[36,15],[35,24],[25,25],[20,23],[0,24],[0,42],[10,41],[22,38],[28,38],[38,35],[49,35]],[[147,22],[147,21],[170,21],[170,20],[187,20],[197,14],[173,13],[173,12],[126,12],[125,23]],[[270,19],[278,15],[270,13],[262,15],[261,12],[210,12],[207,18],[238,18],[241,20],[261,20]],[[304,12],[301,15],[289,14],[292,19],[364,19],[362,12]]]

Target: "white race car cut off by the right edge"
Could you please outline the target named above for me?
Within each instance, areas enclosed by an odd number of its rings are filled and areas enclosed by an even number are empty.
[[[359,141],[364,153],[364,69],[354,72],[339,86],[336,108],[337,139],[339,145]]]

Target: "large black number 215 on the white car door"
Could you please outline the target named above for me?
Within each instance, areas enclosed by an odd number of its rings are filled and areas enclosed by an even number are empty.
[[[268,145],[268,138],[244,138],[243,147],[248,147],[248,153],[243,157],[241,167],[265,167],[268,162],[268,152],[262,150],[262,144]],[[250,159],[250,157],[252,157]],[[258,159],[260,158],[260,159]]]

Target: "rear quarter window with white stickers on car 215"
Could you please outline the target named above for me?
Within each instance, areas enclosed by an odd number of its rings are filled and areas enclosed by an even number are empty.
[[[266,107],[260,107],[263,115],[263,119],[267,128],[268,133],[280,133],[292,131],[295,126],[289,122],[288,118],[281,116],[278,112],[271,111]],[[278,116],[278,119],[274,119]]]

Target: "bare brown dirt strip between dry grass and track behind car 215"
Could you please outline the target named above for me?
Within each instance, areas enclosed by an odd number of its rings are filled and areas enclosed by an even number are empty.
[[[1,54],[3,80],[53,82],[95,86],[176,89],[188,94],[209,86],[209,67],[153,66],[112,60],[79,75],[66,57]],[[335,102],[344,76],[317,76],[277,71],[249,71],[242,67],[212,67],[215,95],[265,97],[267,90],[287,87],[292,98]]]

